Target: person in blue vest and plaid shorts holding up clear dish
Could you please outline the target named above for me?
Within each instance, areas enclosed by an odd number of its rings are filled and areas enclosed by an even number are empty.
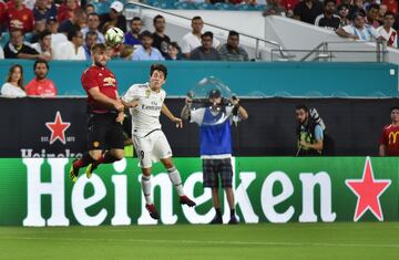
[[[232,168],[232,123],[246,119],[248,113],[239,105],[239,100],[223,98],[219,90],[208,93],[204,107],[192,110],[193,100],[187,96],[182,111],[182,118],[200,126],[200,154],[203,159],[203,185],[212,189],[212,200],[216,216],[211,223],[223,223],[219,198],[221,187],[225,190],[231,219],[228,223],[238,223],[235,216]]]

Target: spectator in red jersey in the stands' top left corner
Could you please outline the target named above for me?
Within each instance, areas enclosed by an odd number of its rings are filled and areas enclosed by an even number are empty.
[[[8,9],[9,30],[21,29],[23,32],[33,30],[33,13],[24,7],[23,0],[13,0],[13,6]]]

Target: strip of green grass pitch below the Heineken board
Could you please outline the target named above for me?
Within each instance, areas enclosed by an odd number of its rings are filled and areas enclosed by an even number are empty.
[[[398,222],[0,228],[0,259],[399,259]]]

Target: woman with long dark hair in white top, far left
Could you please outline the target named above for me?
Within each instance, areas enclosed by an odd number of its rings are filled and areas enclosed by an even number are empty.
[[[10,67],[7,82],[1,86],[1,95],[7,97],[27,96],[23,89],[23,70],[21,65],[17,64]]]

